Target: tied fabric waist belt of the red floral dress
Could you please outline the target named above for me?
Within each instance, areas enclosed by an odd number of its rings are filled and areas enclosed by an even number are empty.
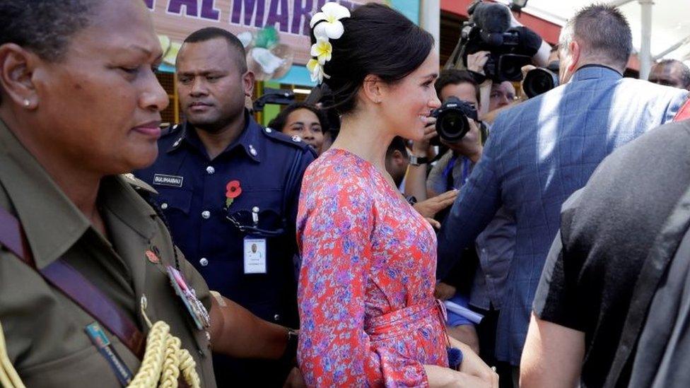
[[[444,327],[445,306],[439,300],[431,298],[378,317],[372,317],[364,323],[364,331],[372,341],[377,341],[415,331],[428,325],[430,320],[438,320],[440,327]]]

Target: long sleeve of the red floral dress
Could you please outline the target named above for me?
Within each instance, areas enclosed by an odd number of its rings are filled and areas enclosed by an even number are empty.
[[[421,363],[377,348],[364,330],[376,212],[370,182],[314,181],[305,177],[298,216],[298,360],[305,381],[309,387],[426,385]]]

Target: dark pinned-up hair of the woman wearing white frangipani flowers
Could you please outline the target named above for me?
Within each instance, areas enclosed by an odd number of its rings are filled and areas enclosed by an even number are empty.
[[[329,40],[332,58],[324,65],[324,73],[330,77],[324,78],[324,83],[333,90],[334,107],[340,114],[355,108],[366,76],[373,74],[389,83],[399,81],[417,69],[433,48],[430,33],[381,4],[359,6],[350,18],[340,21],[345,32],[339,39]]]

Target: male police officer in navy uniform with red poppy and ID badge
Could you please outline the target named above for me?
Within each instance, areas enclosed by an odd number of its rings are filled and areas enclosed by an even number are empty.
[[[245,110],[255,78],[235,35],[197,30],[176,66],[186,122],[161,137],[158,160],[136,175],[160,193],[175,243],[212,290],[296,327],[294,225],[302,175],[315,155]],[[252,245],[262,249],[260,259],[245,253]],[[220,387],[282,384],[285,364],[214,355]]]

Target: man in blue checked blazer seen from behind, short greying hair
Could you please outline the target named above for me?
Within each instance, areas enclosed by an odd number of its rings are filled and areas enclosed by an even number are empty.
[[[438,237],[443,278],[498,208],[513,215],[515,256],[496,338],[496,357],[511,365],[520,363],[561,204],[615,148],[671,120],[687,93],[621,76],[632,39],[616,8],[583,9],[563,28],[559,45],[562,85],[499,115]]]

